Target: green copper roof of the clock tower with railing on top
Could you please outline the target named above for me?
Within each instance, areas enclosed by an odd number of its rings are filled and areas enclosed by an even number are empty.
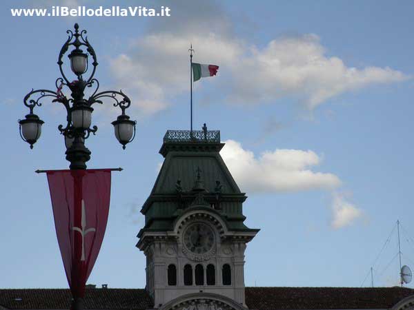
[[[152,192],[141,209],[146,216],[142,231],[168,231],[189,207],[215,205],[228,229],[249,231],[244,225],[240,192],[219,151],[219,131],[168,130],[159,151],[165,160]]]

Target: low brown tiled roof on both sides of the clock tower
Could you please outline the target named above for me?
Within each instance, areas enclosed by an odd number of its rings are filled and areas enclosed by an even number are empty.
[[[412,296],[401,287],[246,287],[246,304],[257,310],[390,309]],[[0,289],[0,309],[68,309],[69,289]],[[144,289],[86,289],[86,309],[145,310]]]

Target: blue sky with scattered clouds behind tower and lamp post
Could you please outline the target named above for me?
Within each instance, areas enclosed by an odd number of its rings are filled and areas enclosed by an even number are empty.
[[[110,214],[88,280],[145,287],[135,247],[139,212],[163,158],[166,130],[189,129],[189,59],[219,65],[194,89],[194,124],[221,130],[221,156],[248,199],[246,286],[390,287],[414,268],[413,1],[92,1],[61,6],[168,6],[170,17],[12,17],[1,1],[0,288],[67,287],[48,184],[36,169],[66,169],[56,103],[30,150],[17,120],[32,89],[54,90],[66,30],[88,30],[101,90],[130,96],[137,136],[113,134],[119,111],[95,107],[89,168],[112,173]],[[64,91],[64,90],[63,90]],[[414,287],[413,284],[407,285]]]

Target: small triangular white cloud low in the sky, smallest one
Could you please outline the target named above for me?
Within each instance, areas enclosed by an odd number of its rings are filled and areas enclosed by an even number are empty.
[[[333,229],[340,229],[349,226],[362,216],[362,210],[346,201],[341,194],[334,193],[332,201]]]

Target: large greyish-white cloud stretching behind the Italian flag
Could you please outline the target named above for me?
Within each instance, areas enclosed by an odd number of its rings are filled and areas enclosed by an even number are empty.
[[[176,8],[176,14],[198,12],[197,3]],[[193,19],[179,19],[177,27],[176,20],[164,19],[112,59],[117,82],[144,112],[159,112],[174,96],[188,92],[190,43],[195,61],[220,66],[217,78],[195,86],[216,83],[215,98],[235,104],[275,103],[290,96],[312,110],[345,92],[409,77],[388,67],[348,67],[338,56],[328,56],[315,34],[277,38],[259,47],[237,37],[219,8],[206,6],[208,14],[201,14],[197,23],[214,26],[200,28]],[[221,22],[212,23],[215,16]]]

